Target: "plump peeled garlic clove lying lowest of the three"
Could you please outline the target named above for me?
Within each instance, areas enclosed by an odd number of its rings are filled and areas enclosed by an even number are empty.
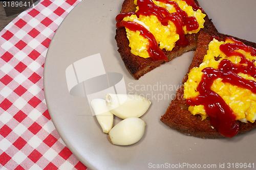
[[[126,118],[111,129],[110,142],[116,145],[134,144],[142,138],[145,126],[145,122],[140,118]]]

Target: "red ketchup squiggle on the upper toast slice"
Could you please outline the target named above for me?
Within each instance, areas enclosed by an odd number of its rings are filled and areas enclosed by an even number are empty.
[[[155,5],[152,0],[138,0],[137,6],[139,7],[139,10],[136,13],[134,13],[134,12],[121,13],[116,16],[117,28],[126,27],[126,26],[124,26],[125,22],[122,21],[123,18],[126,16],[131,16],[133,14],[136,14],[137,17],[139,17],[140,15],[144,15],[144,16],[155,15],[159,19],[159,21],[162,23],[163,26],[167,26],[168,21],[172,21],[174,23],[174,25],[176,26],[177,34],[179,34],[179,40],[177,41],[177,44],[180,46],[186,46],[188,44],[188,40],[185,37],[184,31],[183,31],[183,26],[186,26],[188,31],[197,30],[199,28],[199,24],[198,24],[196,18],[192,17],[192,16],[188,17],[187,13],[185,11],[181,10],[181,8],[178,6],[178,4],[174,1],[169,1],[169,0],[156,0],[156,1],[173,5],[177,12],[169,13],[167,9]],[[122,22],[122,23],[120,23],[120,22]],[[139,28],[137,25],[138,24],[136,24],[136,22],[129,22],[129,27],[130,27],[129,29],[140,31],[140,33],[141,32],[145,33],[144,29],[143,29],[143,31],[140,29],[143,26]],[[148,34],[148,33],[145,33],[145,34]],[[145,34],[142,36],[147,38],[145,36]],[[163,60],[163,59],[164,59],[164,61],[168,61],[166,56],[165,57],[156,56],[159,54],[159,52],[158,51],[155,52],[154,50],[158,49],[156,47],[156,46],[158,46],[158,42],[152,41],[152,39],[148,39],[148,40],[149,40],[151,47],[155,46],[154,48],[152,48],[152,50],[153,50],[152,53],[149,53],[150,57],[154,61]],[[155,55],[155,56],[153,56],[153,55]]]

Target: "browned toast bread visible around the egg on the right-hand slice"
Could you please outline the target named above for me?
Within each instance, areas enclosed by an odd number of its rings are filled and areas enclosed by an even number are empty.
[[[193,61],[191,62],[188,72],[193,67],[198,67],[202,61],[204,56],[207,54],[208,44],[212,40],[212,36],[217,36],[220,40],[224,40],[226,37],[232,37],[220,33],[206,33],[201,32],[198,37],[198,47],[195,52],[195,56]],[[236,38],[236,37],[234,37]],[[237,40],[242,41],[248,46],[252,46],[256,48],[256,43],[249,42],[246,40],[242,40],[236,38]],[[188,76],[186,75],[183,79],[183,84],[187,81]],[[186,100],[183,99],[184,94],[184,86],[182,86],[176,94],[176,98],[170,103],[167,111],[161,117],[161,121],[168,125],[171,128],[174,128],[181,133],[193,135],[201,138],[220,138],[223,137],[220,133],[217,132],[216,129],[212,129],[210,125],[209,118],[205,120],[201,120],[201,116],[192,115],[188,110],[188,105],[186,104]],[[247,132],[256,127],[256,123],[241,123],[239,133]]]

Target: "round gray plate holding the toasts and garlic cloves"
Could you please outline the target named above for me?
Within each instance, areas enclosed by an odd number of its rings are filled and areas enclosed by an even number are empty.
[[[232,139],[200,139],[180,134],[160,122],[160,116],[187,71],[193,52],[134,80],[120,59],[114,39],[115,16],[121,4],[122,0],[83,1],[63,21],[51,42],[44,72],[46,101],[54,125],[71,151],[92,169],[147,169],[152,164],[165,162],[212,163],[217,167],[219,163],[226,163],[227,167],[228,162],[255,162],[255,131]],[[201,0],[200,4],[220,32],[256,40],[255,0]],[[90,115],[86,99],[69,94],[66,68],[96,53],[101,54],[107,72],[123,74],[129,92],[137,90],[137,93],[148,94],[152,100],[150,110],[142,117],[147,123],[146,133],[134,145],[112,145],[101,132],[95,117]],[[174,89],[160,89],[162,85]],[[165,93],[165,99],[159,99]]]

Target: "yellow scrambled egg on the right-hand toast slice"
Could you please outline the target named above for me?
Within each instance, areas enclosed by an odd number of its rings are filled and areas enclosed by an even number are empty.
[[[233,63],[239,64],[241,61],[240,57],[227,57],[223,52],[220,51],[220,45],[228,42],[232,43],[232,40],[226,40],[224,42],[214,39],[209,43],[209,48],[207,54],[204,56],[203,63],[201,63],[199,67],[194,67],[191,69],[188,74],[188,80],[184,84],[184,99],[195,98],[199,95],[197,87],[203,75],[202,69],[205,67],[217,69],[219,63],[223,59],[228,59]],[[243,50],[239,50],[238,52],[245,55],[245,57],[250,61],[256,60],[256,57],[251,56],[250,53],[246,53]],[[216,61],[215,57],[220,57],[220,59]],[[256,62],[254,62],[254,65],[256,65]],[[256,81],[249,75],[241,73],[238,75],[244,79]],[[226,104],[233,110],[237,120],[244,123],[247,123],[247,121],[254,123],[256,119],[256,94],[248,89],[234,86],[229,83],[223,83],[222,79],[220,78],[214,81],[211,86],[211,90],[215,91],[222,97]],[[188,110],[193,115],[200,114],[202,119],[207,117],[203,105],[189,106]]]

